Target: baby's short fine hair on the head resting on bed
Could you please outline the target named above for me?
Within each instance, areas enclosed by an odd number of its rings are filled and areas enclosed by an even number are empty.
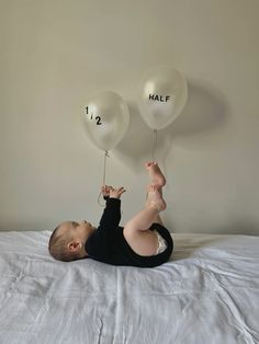
[[[74,239],[70,232],[59,234],[58,229],[60,225],[57,226],[48,242],[48,251],[52,256],[57,261],[71,262],[80,259],[79,252],[71,252],[68,250],[68,243]]]

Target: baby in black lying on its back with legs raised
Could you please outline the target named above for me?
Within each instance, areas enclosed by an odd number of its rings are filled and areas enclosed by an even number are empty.
[[[155,162],[145,164],[150,184],[144,208],[121,227],[121,196],[124,187],[102,186],[106,202],[98,228],[83,220],[66,221],[52,233],[48,250],[58,261],[93,259],[112,265],[153,267],[167,262],[172,238],[159,216],[166,209],[162,187],[166,179]]]

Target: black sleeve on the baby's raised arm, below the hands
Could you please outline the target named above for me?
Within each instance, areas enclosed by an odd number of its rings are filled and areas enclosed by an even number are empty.
[[[114,228],[117,227],[121,221],[121,199],[120,198],[106,198],[106,207],[103,210],[99,227]]]

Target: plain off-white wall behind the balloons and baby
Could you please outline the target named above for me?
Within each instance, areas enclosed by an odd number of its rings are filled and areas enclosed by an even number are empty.
[[[0,229],[98,222],[103,152],[87,138],[89,94],[131,111],[106,182],[124,185],[122,225],[145,200],[153,131],[136,107],[150,68],[189,83],[184,111],[158,133],[172,232],[259,234],[257,0],[1,0]]]

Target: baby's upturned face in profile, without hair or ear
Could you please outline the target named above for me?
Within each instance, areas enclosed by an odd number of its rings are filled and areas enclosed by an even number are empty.
[[[70,232],[75,239],[79,239],[82,242],[86,242],[89,234],[94,230],[95,228],[87,220],[82,220],[80,222],[66,221],[63,222],[59,227],[60,234]]]

